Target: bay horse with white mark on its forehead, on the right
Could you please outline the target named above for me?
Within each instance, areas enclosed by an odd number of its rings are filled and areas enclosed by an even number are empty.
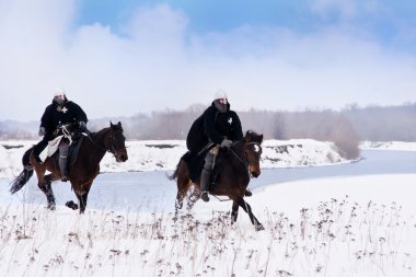
[[[262,142],[263,135],[249,130],[245,137],[236,141],[228,151],[222,151],[222,162],[216,178],[218,185],[210,185],[209,187],[211,195],[228,196],[232,200],[231,223],[236,221],[239,207],[242,207],[249,213],[256,231],[264,230],[264,227],[253,215],[251,206],[243,197],[250,177],[258,177],[261,174]],[[174,219],[177,219],[178,209],[182,209],[184,198],[192,185],[194,185],[194,192],[187,198],[188,208],[190,209],[195,201],[200,198],[200,178],[193,183],[189,177],[189,164],[186,161],[188,153],[181,158],[175,172],[169,176],[170,180],[176,180],[177,185]]]

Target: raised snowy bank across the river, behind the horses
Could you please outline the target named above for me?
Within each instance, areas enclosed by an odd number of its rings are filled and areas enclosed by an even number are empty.
[[[0,141],[0,177],[15,176],[22,171],[24,151],[37,141]],[[107,153],[101,162],[102,172],[174,170],[187,151],[184,140],[127,141],[129,159],[117,163]],[[43,153],[42,158],[45,157]],[[322,165],[345,161],[332,142],[310,139],[266,140],[262,168]]]

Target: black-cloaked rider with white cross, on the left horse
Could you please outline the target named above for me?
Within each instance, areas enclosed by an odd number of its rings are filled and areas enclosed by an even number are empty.
[[[56,129],[59,125],[78,122],[80,128],[86,129],[86,114],[82,108],[72,101],[69,101],[63,89],[56,89],[53,103],[48,105],[42,116],[38,135],[44,136],[43,139],[34,147],[33,153],[35,160],[42,163],[39,154],[46,148],[49,140],[56,138],[59,134]],[[59,168],[61,180],[68,181],[67,157],[69,150],[69,141],[62,139],[59,143]]]

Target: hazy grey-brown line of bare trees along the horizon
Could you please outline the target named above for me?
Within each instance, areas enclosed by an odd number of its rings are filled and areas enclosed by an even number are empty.
[[[184,111],[165,109],[111,119],[123,123],[126,138],[130,140],[186,139],[190,125],[206,107],[195,104]],[[347,159],[359,157],[358,143],[361,140],[416,141],[416,103],[367,107],[351,104],[338,112],[251,109],[238,114],[243,130],[262,132],[265,139],[311,138],[333,141]],[[106,126],[108,118],[89,123],[91,130]],[[38,122],[0,122],[0,139],[38,139],[37,128]]]

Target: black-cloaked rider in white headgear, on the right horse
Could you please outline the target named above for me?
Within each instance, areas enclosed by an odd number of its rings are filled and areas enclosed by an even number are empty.
[[[205,164],[200,175],[200,198],[203,198],[204,201],[209,201],[209,178],[219,148],[230,148],[235,141],[243,138],[243,131],[240,118],[235,112],[230,109],[230,103],[223,90],[216,92],[213,102],[204,112],[201,117],[204,122],[204,136],[208,137],[208,139],[203,139],[203,145],[199,145],[198,148],[204,149],[204,147],[207,147],[205,141],[209,141],[208,143],[213,146],[211,146],[212,148],[205,158]],[[246,191],[245,195],[251,196],[252,193]]]

